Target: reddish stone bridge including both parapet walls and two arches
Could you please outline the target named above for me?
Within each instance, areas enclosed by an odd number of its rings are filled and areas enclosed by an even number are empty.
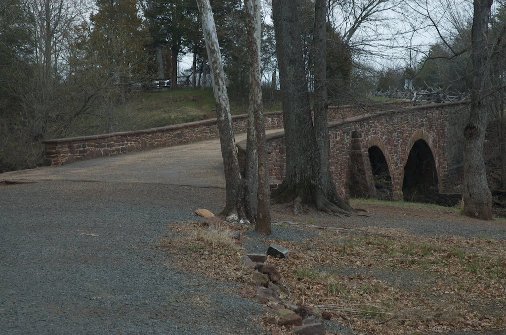
[[[452,193],[462,169],[465,103],[406,103],[329,109],[330,168],[341,196],[438,202]],[[364,114],[366,111],[369,114]],[[332,121],[333,120],[333,121]],[[245,132],[247,116],[233,117]],[[282,113],[265,114],[266,128],[281,128]],[[43,141],[47,165],[109,157],[218,137],[216,119],[95,136]],[[271,178],[285,169],[283,132],[267,136]],[[237,144],[239,154],[245,142]],[[241,155],[240,155],[241,156]]]

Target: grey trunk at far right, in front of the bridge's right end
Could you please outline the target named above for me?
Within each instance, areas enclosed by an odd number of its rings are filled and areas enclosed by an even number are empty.
[[[488,188],[483,143],[490,109],[489,45],[487,44],[491,0],[475,0],[471,47],[473,59],[473,87],[471,90],[471,114],[464,130],[464,213],[468,216],[492,219],[492,195]]]

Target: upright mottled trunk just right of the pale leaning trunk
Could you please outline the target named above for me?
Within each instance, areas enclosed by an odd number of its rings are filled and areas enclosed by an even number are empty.
[[[269,185],[269,161],[267,157],[267,142],[265,137],[264,106],[262,104],[262,84],[260,75],[260,1],[244,0],[246,13],[246,29],[248,34],[249,50],[249,110],[248,115],[253,116],[256,143],[250,147],[248,143],[247,151],[254,151],[256,156],[257,168],[255,171],[258,177],[251,178],[256,180],[255,190],[256,217],[255,230],[263,235],[271,234],[271,212],[270,212],[270,185]],[[249,118],[248,118],[249,120]],[[256,148],[256,150],[255,150]],[[253,184],[250,182],[250,184]]]

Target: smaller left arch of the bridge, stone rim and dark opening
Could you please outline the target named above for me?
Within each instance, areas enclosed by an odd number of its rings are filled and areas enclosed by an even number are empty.
[[[369,158],[370,176],[373,180],[376,197],[392,200],[394,197],[394,170],[387,146],[377,135],[368,136],[364,144]]]

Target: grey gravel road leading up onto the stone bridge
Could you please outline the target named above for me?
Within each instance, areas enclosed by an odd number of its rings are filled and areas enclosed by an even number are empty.
[[[156,247],[223,187],[218,139],[0,174],[0,332],[260,333],[262,306]]]

